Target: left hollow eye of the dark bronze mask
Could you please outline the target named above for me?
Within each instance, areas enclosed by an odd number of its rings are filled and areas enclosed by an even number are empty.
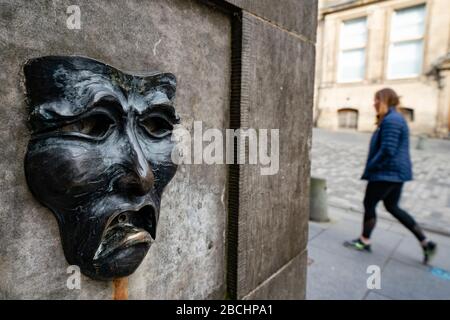
[[[81,133],[86,136],[101,138],[114,124],[113,120],[104,114],[93,114],[76,122],[59,128],[58,132]]]

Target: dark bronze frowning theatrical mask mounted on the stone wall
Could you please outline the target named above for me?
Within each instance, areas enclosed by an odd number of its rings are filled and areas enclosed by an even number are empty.
[[[28,186],[55,215],[67,261],[94,279],[133,273],[156,236],[171,160],[175,76],[76,56],[24,66]]]

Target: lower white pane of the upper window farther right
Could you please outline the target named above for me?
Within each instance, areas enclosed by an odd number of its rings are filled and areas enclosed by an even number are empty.
[[[393,43],[389,52],[389,78],[413,77],[422,70],[423,41]]]

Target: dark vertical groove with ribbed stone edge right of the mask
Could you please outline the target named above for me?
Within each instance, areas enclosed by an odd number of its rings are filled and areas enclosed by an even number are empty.
[[[232,21],[231,105],[230,125],[233,129],[249,129],[249,108],[254,65],[251,44],[253,23],[245,11],[235,15]],[[245,159],[248,144],[245,139],[234,143],[234,163],[229,169],[228,237],[227,237],[227,287],[229,297],[241,299],[247,292],[247,214],[249,185],[245,163],[237,164],[238,157]],[[242,163],[242,162],[241,162]]]

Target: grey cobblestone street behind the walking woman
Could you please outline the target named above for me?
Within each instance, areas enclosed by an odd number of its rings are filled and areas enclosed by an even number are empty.
[[[311,175],[327,179],[330,206],[363,212],[366,181],[360,180],[369,133],[314,129]],[[405,184],[401,206],[425,228],[450,235],[450,141],[428,139],[423,150],[411,138],[414,181]],[[394,219],[382,205],[381,218]]]

